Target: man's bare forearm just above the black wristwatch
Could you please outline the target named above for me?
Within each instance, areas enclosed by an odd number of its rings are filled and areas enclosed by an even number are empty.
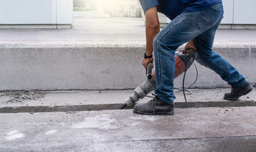
[[[146,25],[146,55],[147,56],[151,56],[152,52],[153,52],[153,41],[154,41],[154,37],[156,37],[156,35],[158,34],[160,28],[159,28],[159,24],[156,25]]]

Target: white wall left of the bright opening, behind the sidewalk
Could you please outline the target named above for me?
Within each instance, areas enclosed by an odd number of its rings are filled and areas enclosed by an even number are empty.
[[[0,24],[71,24],[72,0],[1,0]]]

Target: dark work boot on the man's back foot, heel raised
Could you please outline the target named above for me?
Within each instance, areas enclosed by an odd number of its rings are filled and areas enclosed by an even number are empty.
[[[247,82],[245,85],[243,85],[243,87],[240,87],[238,89],[231,89],[231,92],[225,93],[224,99],[234,101],[234,100],[237,100],[239,97],[241,97],[245,94],[248,94],[252,90],[253,90],[252,84]]]

